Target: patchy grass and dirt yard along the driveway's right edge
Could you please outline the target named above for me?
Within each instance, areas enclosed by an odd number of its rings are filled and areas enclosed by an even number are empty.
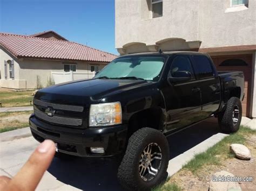
[[[211,173],[220,170],[231,171],[231,169],[237,167],[237,171],[242,175],[242,173],[248,173],[247,171],[242,171],[245,165],[250,165],[250,167],[252,167],[252,172],[250,173],[253,173],[253,166],[255,167],[253,160],[251,162],[247,161],[248,164],[246,164],[246,161],[240,162],[238,159],[234,158],[234,154],[231,153],[230,145],[233,143],[244,144],[249,146],[251,152],[254,152],[256,147],[254,146],[252,136],[255,135],[255,130],[251,130],[246,126],[240,126],[238,132],[225,137],[216,145],[208,148],[207,151],[195,155],[190,162],[183,166],[178,173],[169,178],[164,185],[152,190],[186,190],[188,187],[196,190],[203,188],[207,190]],[[250,184],[250,182],[248,182],[248,184]]]

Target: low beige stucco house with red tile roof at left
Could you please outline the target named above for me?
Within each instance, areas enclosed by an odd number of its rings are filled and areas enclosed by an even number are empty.
[[[68,41],[54,31],[32,36],[0,33],[0,87],[35,89],[90,79],[117,56]]]

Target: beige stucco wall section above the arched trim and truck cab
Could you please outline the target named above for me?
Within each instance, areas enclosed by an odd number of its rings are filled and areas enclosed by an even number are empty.
[[[163,17],[153,19],[144,16],[147,11],[145,1],[115,1],[116,48],[132,42],[154,45],[159,40],[171,37],[187,41],[198,39],[199,0],[164,0]]]

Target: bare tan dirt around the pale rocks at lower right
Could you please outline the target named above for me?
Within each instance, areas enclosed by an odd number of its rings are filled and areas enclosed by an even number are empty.
[[[181,169],[170,178],[169,183],[176,183],[183,190],[208,190],[212,175],[223,170],[235,176],[252,176],[254,178],[253,182],[239,182],[239,185],[242,190],[256,190],[256,135],[246,137],[245,145],[251,151],[251,160],[239,160],[237,158],[224,160],[220,157],[222,166],[204,166],[197,174]]]

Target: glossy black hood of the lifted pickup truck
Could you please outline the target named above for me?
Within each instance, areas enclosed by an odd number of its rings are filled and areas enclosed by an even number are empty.
[[[98,103],[107,94],[150,83],[142,80],[91,79],[60,83],[38,90],[35,98],[52,103],[87,105]]]

